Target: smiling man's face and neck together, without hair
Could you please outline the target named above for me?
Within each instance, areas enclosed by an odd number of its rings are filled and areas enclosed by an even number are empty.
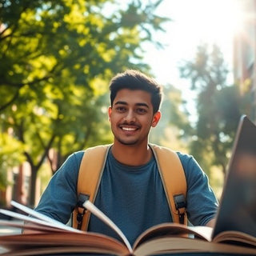
[[[153,111],[150,93],[119,90],[109,108],[109,117],[114,134],[114,157],[130,166],[149,162],[152,152],[148,147],[148,135],[151,126],[156,126],[161,117],[159,111]]]

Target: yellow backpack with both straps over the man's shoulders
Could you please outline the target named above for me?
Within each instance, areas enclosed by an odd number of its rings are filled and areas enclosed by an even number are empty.
[[[149,145],[158,165],[173,222],[187,224],[186,176],[178,154],[166,147]],[[77,185],[78,203],[72,220],[73,227],[78,230],[87,230],[90,211],[82,204],[86,200],[94,203],[110,146],[88,148],[82,157]]]

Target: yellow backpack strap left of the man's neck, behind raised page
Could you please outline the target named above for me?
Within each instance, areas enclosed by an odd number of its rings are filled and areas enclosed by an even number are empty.
[[[78,230],[87,230],[90,211],[85,210],[83,202],[94,202],[98,186],[106,164],[107,153],[110,145],[95,146],[85,150],[78,173],[78,204],[73,212],[73,227]]]

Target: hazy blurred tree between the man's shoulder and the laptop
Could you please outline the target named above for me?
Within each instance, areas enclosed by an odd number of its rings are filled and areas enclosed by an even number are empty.
[[[237,86],[227,85],[229,71],[218,46],[212,46],[212,50],[199,46],[194,61],[186,62],[180,71],[182,78],[190,79],[191,89],[198,92],[198,120],[190,150],[206,170],[209,165],[221,166],[225,175],[244,98]]]

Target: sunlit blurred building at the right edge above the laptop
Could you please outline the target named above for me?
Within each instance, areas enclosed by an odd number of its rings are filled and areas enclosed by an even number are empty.
[[[256,0],[237,2],[241,5],[241,26],[234,35],[234,81],[241,94],[250,91],[248,114],[256,122]]]

